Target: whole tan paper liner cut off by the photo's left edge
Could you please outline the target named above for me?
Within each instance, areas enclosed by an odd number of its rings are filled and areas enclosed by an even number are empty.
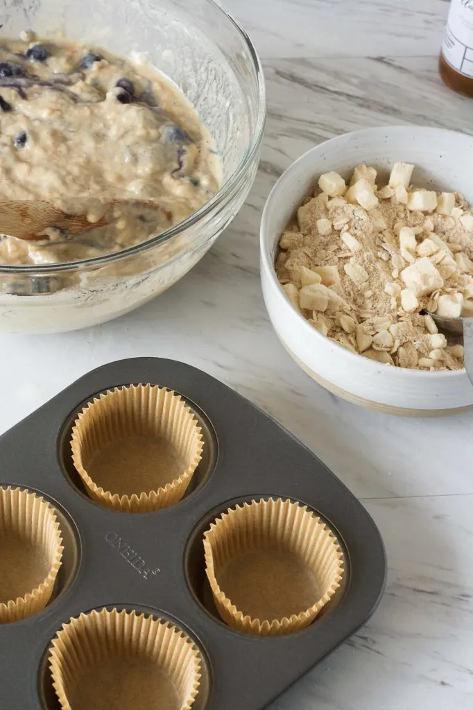
[[[0,488],[0,623],[45,608],[62,550],[59,523],[50,504],[36,493]]]

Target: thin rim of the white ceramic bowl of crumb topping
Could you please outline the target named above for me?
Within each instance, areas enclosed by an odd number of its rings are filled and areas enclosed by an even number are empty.
[[[452,136],[459,137],[461,136],[462,138],[469,139],[469,141],[472,141],[473,143],[473,136],[469,136],[468,133],[462,133],[461,131],[451,131],[450,129],[439,129],[435,128],[435,126],[416,126],[416,125],[393,125],[393,126],[373,126],[371,128],[367,129],[359,129],[357,131],[348,131],[347,133],[341,133],[339,136],[334,136],[333,138],[328,138],[326,141],[322,141],[321,143],[317,143],[316,146],[313,146],[312,148],[309,148],[308,151],[305,151],[305,153],[302,153],[296,160],[293,161],[293,163],[290,163],[288,165],[288,168],[284,170],[282,175],[278,178],[277,182],[275,185],[273,185],[273,188],[271,192],[269,193],[266,202],[263,207],[263,214],[261,215],[261,226],[260,226],[260,253],[261,253],[261,262],[263,266],[265,267],[264,269],[261,269],[261,279],[265,278],[265,275],[269,275],[269,278],[271,279],[271,283],[276,286],[278,290],[278,295],[283,297],[285,302],[288,304],[290,313],[295,317],[296,322],[303,327],[309,338],[314,339],[314,341],[317,344],[321,344],[322,342],[326,342],[328,344],[329,339],[325,336],[322,335],[322,333],[318,332],[317,329],[312,327],[310,323],[303,317],[302,314],[298,313],[295,310],[295,307],[293,304],[290,302],[286,294],[283,292],[283,289],[281,287],[281,284],[278,281],[278,278],[276,276],[276,269],[274,268],[274,263],[273,259],[271,258],[271,248],[269,244],[267,244],[266,240],[266,235],[268,234],[268,220],[269,220],[269,213],[271,212],[271,208],[273,205],[273,202],[276,202],[278,200],[278,197],[280,195],[280,192],[283,191],[283,187],[293,177],[293,173],[297,172],[298,166],[300,163],[303,163],[303,161],[308,157],[310,153],[316,154],[322,146],[325,146],[326,143],[342,143],[344,140],[346,140],[350,136],[360,136],[362,134],[366,133],[373,133],[374,131],[393,131],[393,130],[400,130],[403,129],[403,131],[423,131],[423,132],[428,132],[428,133],[445,133],[445,134],[450,134]],[[314,175],[316,175],[316,171],[314,171]],[[301,195],[301,200],[305,197],[305,195]],[[272,245],[276,243],[276,239],[272,241]],[[352,353],[349,351],[347,348],[344,348],[342,345],[336,342],[331,342],[331,345],[337,347],[339,351],[342,353],[343,356],[346,356],[350,362],[353,363],[354,366],[356,366],[357,362],[359,362],[359,358],[363,357],[359,353]],[[369,358],[364,358],[366,361],[366,366],[367,368],[371,368],[373,371],[373,374],[375,374],[377,368],[379,368],[380,363],[377,363],[376,361],[370,360]],[[406,367],[391,367],[389,368],[391,372],[395,373],[397,372],[399,375],[402,374],[402,376],[407,376],[410,378],[432,378],[432,376],[436,376],[437,378],[440,377],[445,377],[445,378],[459,378],[464,376],[465,374],[465,369],[462,368],[460,370],[441,370],[441,371],[423,371],[423,370],[414,370],[411,368],[406,368]],[[396,375],[394,375],[396,377]]]

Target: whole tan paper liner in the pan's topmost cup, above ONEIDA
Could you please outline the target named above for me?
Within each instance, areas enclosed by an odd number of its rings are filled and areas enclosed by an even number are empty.
[[[130,513],[178,503],[202,458],[202,430],[180,395],[130,385],[100,395],[72,429],[72,460],[89,496]]]

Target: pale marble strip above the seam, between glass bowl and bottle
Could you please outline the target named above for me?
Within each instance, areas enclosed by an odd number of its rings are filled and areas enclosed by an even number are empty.
[[[448,0],[226,0],[263,58],[435,55]]]

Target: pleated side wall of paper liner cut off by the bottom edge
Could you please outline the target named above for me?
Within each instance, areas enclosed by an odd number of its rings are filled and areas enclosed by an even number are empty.
[[[161,618],[115,608],[82,613],[63,624],[53,639],[50,672],[62,710],[76,710],[70,705],[75,689],[87,682],[89,672],[101,662],[114,659],[153,662],[173,684],[179,703],[175,710],[192,708],[199,691],[201,662],[192,640]],[[121,701],[128,706],[126,697]]]

